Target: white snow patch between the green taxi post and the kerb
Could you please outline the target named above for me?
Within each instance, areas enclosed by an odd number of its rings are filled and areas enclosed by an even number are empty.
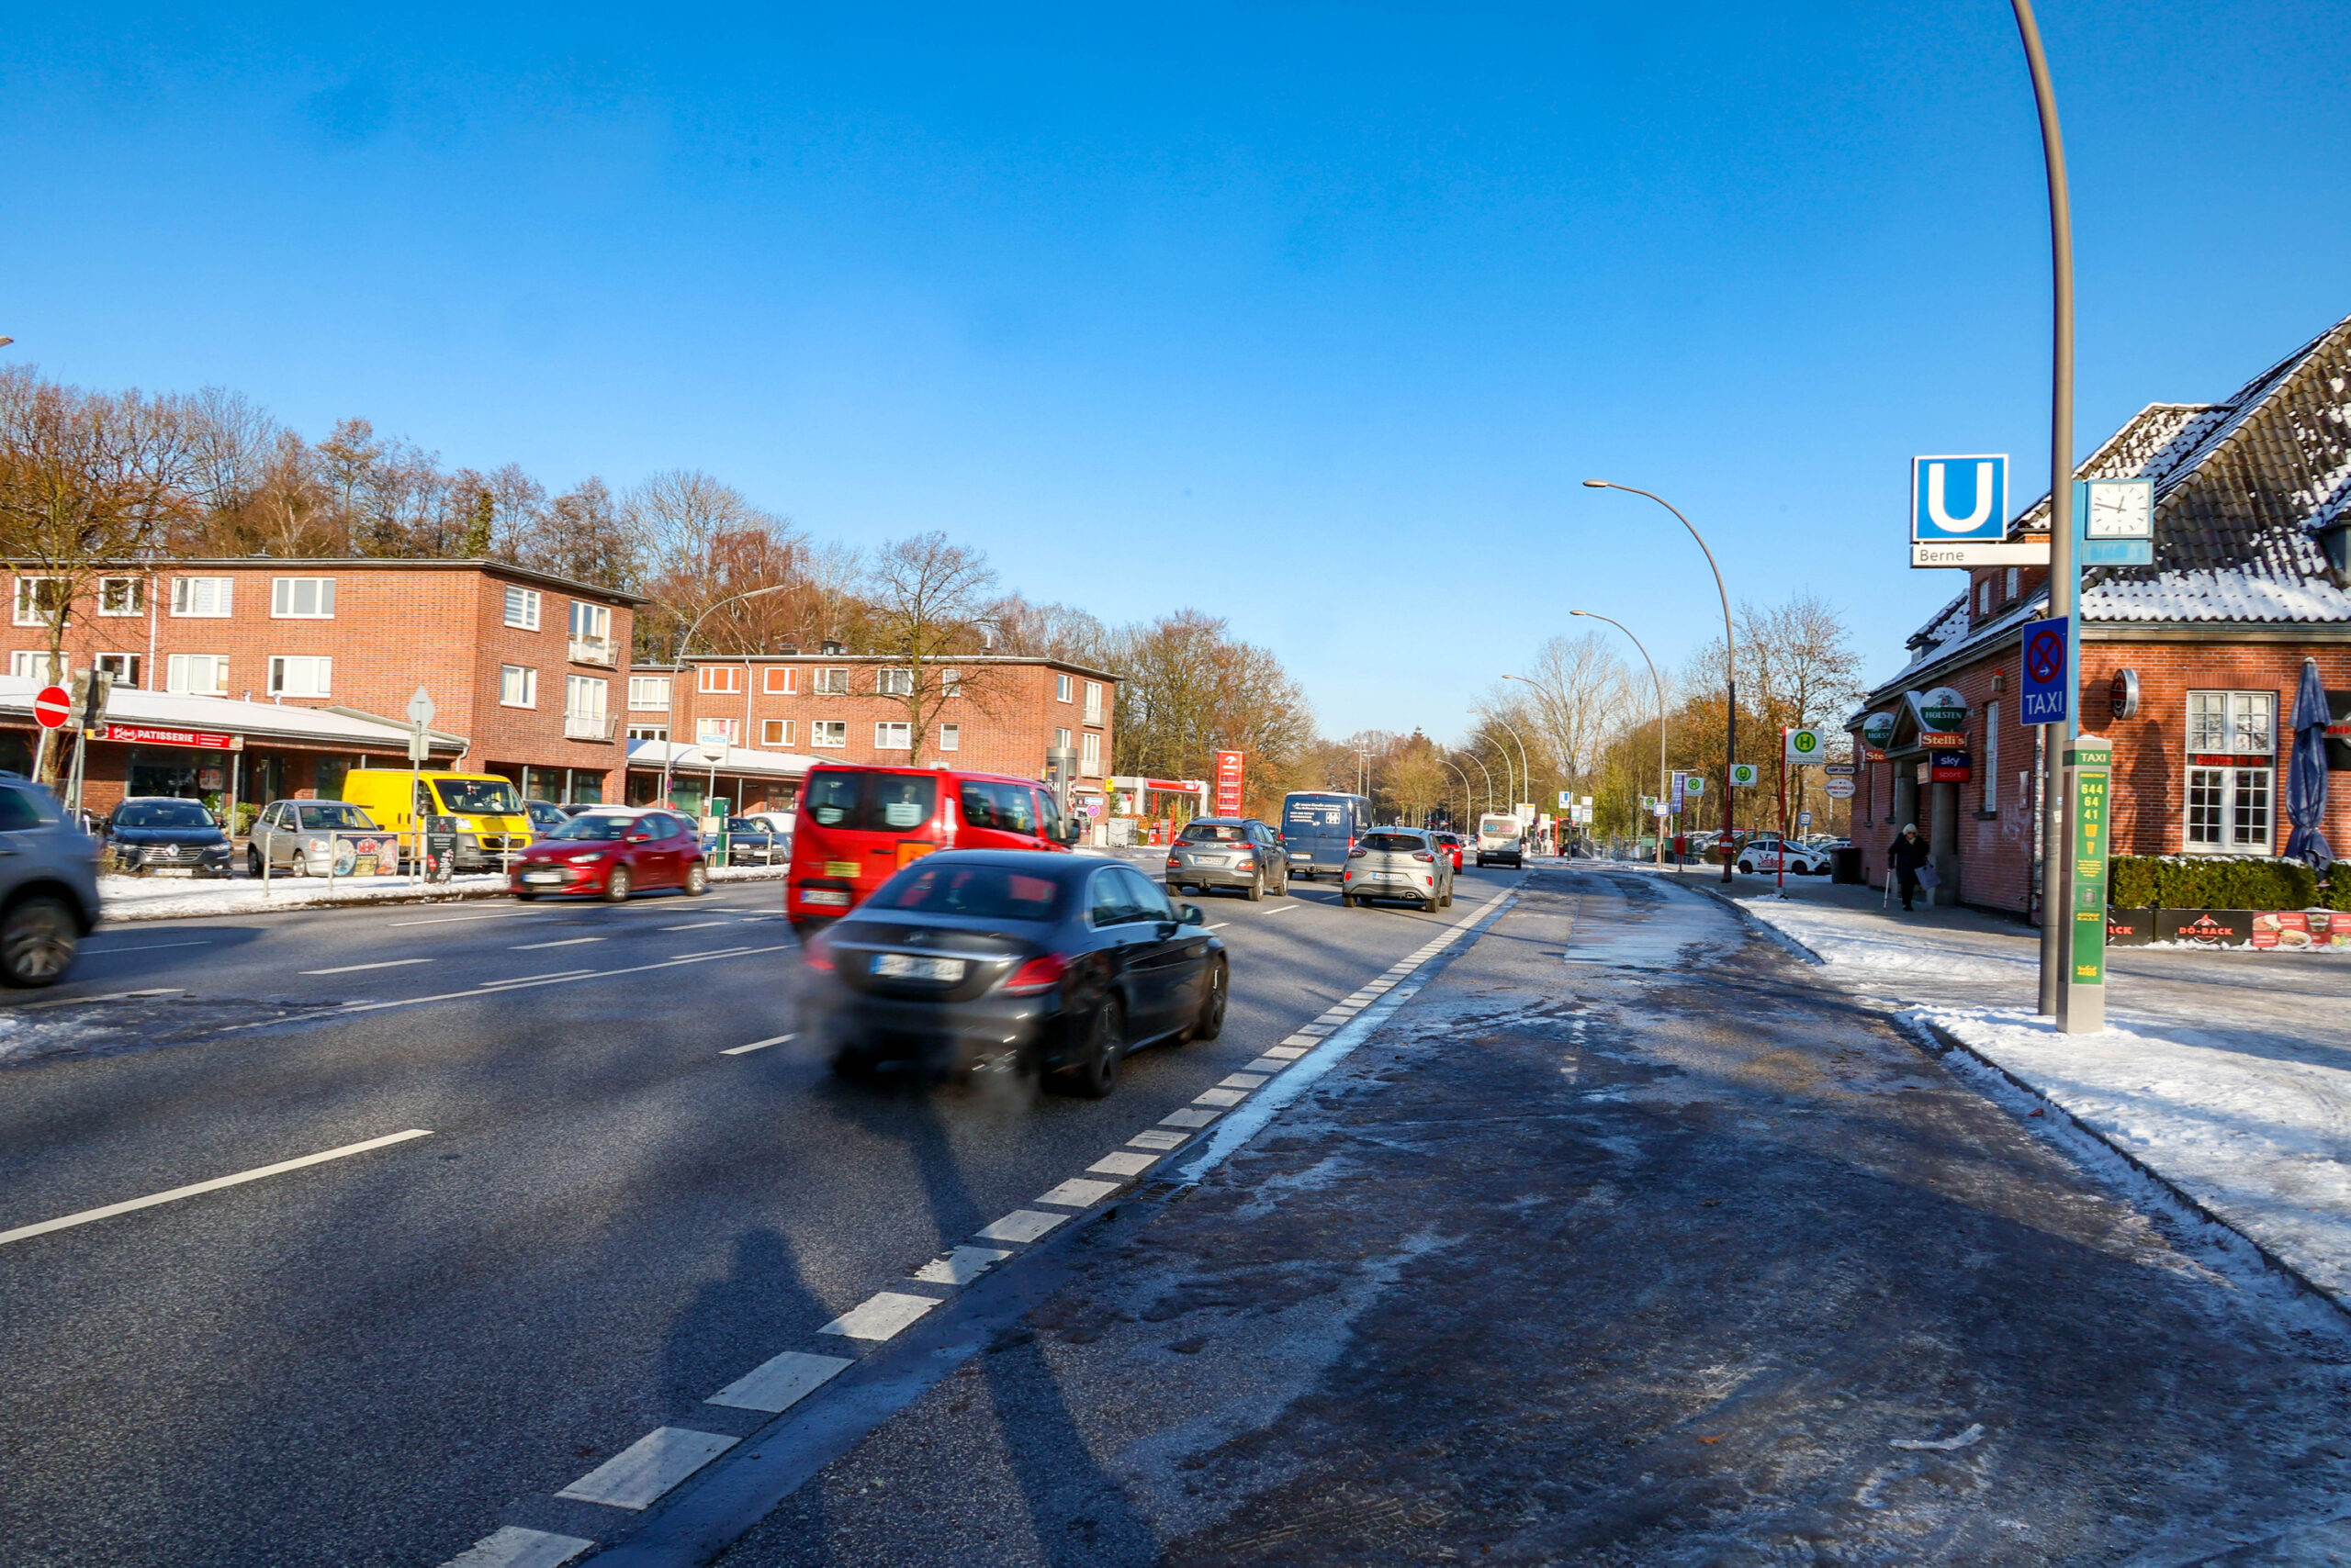
[[[2351,1305],[2351,1072],[2250,1037],[2059,1034],[2022,1009],[1916,1009],[2320,1291]]]

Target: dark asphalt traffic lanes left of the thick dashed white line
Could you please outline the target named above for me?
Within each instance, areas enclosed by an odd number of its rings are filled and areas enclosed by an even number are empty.
[[[1204,903],[1225,1034],[1105,1103],[743,1051],[790,1030],[776,884],[103,929],[0,1006],[0,1232],[428,1135],[0,1244],[0,1561],[430,1568],[501,1521],[607,1528],[552,1493],[724,1427],[710,1392],[1458,917]]]

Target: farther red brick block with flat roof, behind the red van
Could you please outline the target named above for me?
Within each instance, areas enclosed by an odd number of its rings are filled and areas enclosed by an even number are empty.
[[[628,679],[628,799],[658,797],[663,757],[679,806],[698,809],[715,771],[717,795],[736,809],[783,811],[799,799],[799,776],[820,762],[1044,778],[1046,752],[1063,748],[1077,755],[1079,809],[1100,806],[1114,675],[1009,654],[957,658],[955,672],[959,693],[915,736],[898,696],[912,672],[889,656],[752,654],[639,665]],[[724,743],[726,759],[715,769],[689,759],[703,743]]]

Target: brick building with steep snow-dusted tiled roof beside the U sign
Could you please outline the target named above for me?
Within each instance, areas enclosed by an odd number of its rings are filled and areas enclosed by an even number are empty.
[[[2154,564],[2090,569],[2081,595],[2076,701],[2081,729],[2114,743],[2114,853],[2280,853],[2304,658],[2351,717],[2351,320],[2226,402],[2142,409],[2076,477],[2156,489]],[[2045,531],[2048,496],[2010,524],[2010,538]],[[1864,762],[1853,842],[1874,882],[1916,823],[1958,900],[2029,910],[2041,731],[2017,724],[2015,693],[2045,578],[1972,571],[1850,719]],[[1963,698],[1942,731],[1923,710],[1940,689]],[[2351,769],[2351,748],[2330,752]],[[2327,792],[2325,835],[2351,849],[2351,788]]]

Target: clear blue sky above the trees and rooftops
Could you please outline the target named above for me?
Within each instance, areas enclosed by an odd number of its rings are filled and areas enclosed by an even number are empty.
[[[2045,484],[2008,7],[9,7],[0,334],[552,484],[708,468],[1230,616],[1328,733],[1458,733],[1570,607],[1712,581],[1871,665],[1914,451]],[[2043,14],[2081,447],[2351,315],[2337,5]],[[1368,614],[1366,614],[1368,611]]]

